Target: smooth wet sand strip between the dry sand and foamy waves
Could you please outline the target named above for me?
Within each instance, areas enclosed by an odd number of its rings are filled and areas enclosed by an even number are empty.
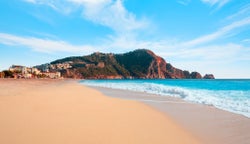
[[[207,144],[247,144],[250,140],[250,119],[240,114],[180,98],[103,87],[91,88],[110,97],[145,103],[170,116]]]

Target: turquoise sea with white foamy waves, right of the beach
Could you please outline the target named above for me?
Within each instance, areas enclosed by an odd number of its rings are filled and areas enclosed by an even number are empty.
[[[80,83],[178,97],[250,118],[250,79],[82,80]]]

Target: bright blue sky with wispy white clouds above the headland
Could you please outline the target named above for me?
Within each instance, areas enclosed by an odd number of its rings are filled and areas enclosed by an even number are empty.
[[[141,48],[183,70],[250,78],[250,1],[0,1],[0,70]]]

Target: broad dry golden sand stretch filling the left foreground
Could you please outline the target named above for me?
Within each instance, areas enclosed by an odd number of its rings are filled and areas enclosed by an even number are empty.
[[[0,80],[1,144],[195,144],[165,114],[76,82]]]

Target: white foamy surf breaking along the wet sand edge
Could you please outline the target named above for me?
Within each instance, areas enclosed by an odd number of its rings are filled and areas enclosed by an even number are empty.
[[[250,91],[238,90],[202,90],[167,86],[155,83],[133,82],[82,82],[89,86],[146,92],[162,96],[179,97],[189,102],[212,105],[219,109],[244,115],[250,118]]]

